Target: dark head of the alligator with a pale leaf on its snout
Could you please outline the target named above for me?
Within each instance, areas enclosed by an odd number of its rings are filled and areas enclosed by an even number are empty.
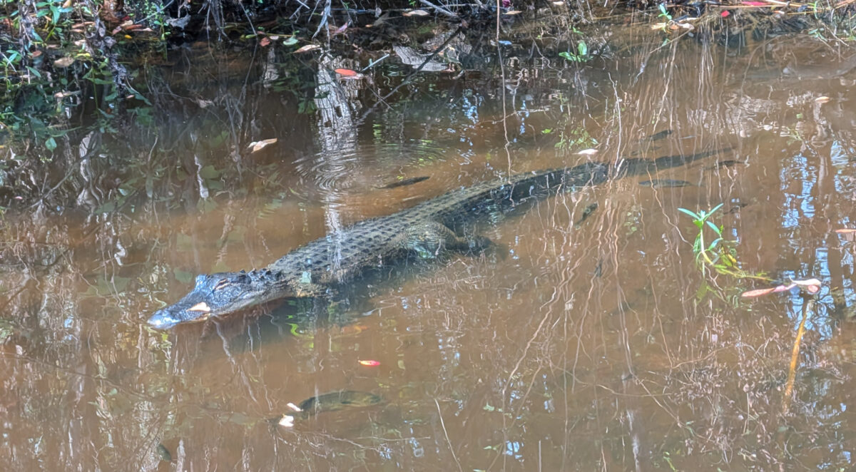
[[[211,316],[229,313],[288,296],[282,292],[282,275],[267,269],[246,273],[220,272],[200,274],[196,286],[184,298],[149,318],[148,323],[158,329],[174,327],[179,323],[201,322]]]

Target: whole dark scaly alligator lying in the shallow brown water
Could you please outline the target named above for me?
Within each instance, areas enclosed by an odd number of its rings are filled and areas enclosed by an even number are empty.
[[[464,225],[479,216],[508,211],[562,189],[593,186],[630,175],[649,175],[726,150],[656,159],[621,159],[615,164],[585,162],[462,187],[392,215],[360,221],[327,234],[288,252],[265,268],[200,274],[193,291],[158,310],[148,323],[168,329],[280,298],[321,297],[335,291],[336,284],[352,280],[369,268],[388,266],[407,257],[484,251],[491,245],[489,239],[458,234]]]

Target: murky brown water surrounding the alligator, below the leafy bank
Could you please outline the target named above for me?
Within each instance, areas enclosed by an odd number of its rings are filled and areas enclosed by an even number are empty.
[[[504,83],[499,69],[425,75],[361,123],[369,90],[383,95],[406,69],[380,69],[374,86],[346,83],[344,109],[300,115],[288,90],[244,81],[265,72],[258,58],[183,53],[213,85],[186,92],[139,135],[105,137],[101,156],[72,168],[71,190],[5,216],[3,463],[849,469],[854,242],[834,230],[856,217],[856,74],[841,72],[850,55],[806,37],[734,50],[661,47],[646,34],[633,52],[615,48],[580,69],[558,58],[512,61]],[[233,69],[241,80],[223,72]],[[674,133],[645,141],[665,129]],[[68,146],[75,158],[80,141]],[[575,154],[589,147],[599,154]],[[167,333],[145,325],[195,274],[262,267],[457,186],[722,147],[733,150],[652,176],[692,185],[628,178],[549,198],[486,227],[497,253],[357,280],[338,304],[274,304]],[[717,160],[739,162],[711,168]],[[377,188],[418,176],[430,179]],[[678,208],[717,204],[712,221],[738,241],[741,268],[823,280],[789,401],[809,298],[741,301],[764,284],[700,272],[695,227]],[[337,390],[383,401],[294,428],[267,421]]]

